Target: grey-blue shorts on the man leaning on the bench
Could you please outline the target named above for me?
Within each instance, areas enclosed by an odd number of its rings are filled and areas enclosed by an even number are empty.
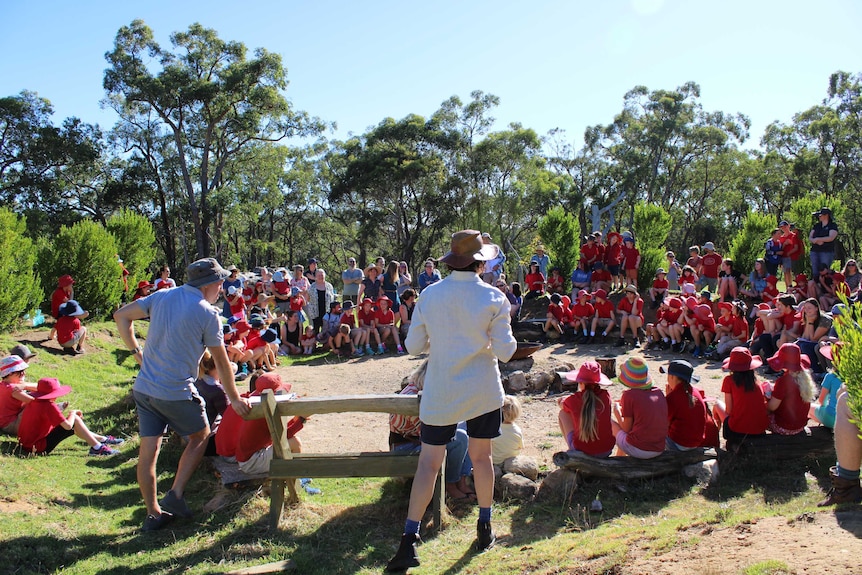
[[[197,394],[192,399],[172,401],[159,399],[132,390],[138,410],[138,428],[141,437],[164,435],[168,426],[182,436],[193,435],[206,429],[207,414],[204,400]]]

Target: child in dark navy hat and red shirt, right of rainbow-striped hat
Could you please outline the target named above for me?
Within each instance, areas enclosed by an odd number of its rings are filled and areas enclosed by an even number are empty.
[[[718,447],[718,428],[709,414],[703,391],[692,386],[700,380],[687,361],[675,359],[667,369],[667,448],[671,451],[691,451],[699,447]]]

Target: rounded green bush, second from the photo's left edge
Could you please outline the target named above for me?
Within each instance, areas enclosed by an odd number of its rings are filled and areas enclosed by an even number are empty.
[[[69,274],[75,279],[75,299],[94,317],[107,317],[120,303],[123,284],[117,243],[96,222],[63,226],[50,247],[41,250],[39,264],[45,270],[45,293],[53,293],[57,279]]]

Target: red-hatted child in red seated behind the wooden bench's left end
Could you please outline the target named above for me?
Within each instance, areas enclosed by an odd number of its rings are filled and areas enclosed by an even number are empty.
[[[264,373],[255,381],[255,390],[251,395],[261,395],[267,389],[271,389],[276,395],[281,395],[289,392],[290,387],[289,383],[282,381],[279,374]],[[306,421],[305,417],[295,416],[285,426],[287,444],[291,453],[302,452],[302,443],[296,434],[302,430]],[[272,461],[272,436],[266,419],[242,421],[236,438],[236,461],[239,470],[248,475],[269,473],[269,464]]]

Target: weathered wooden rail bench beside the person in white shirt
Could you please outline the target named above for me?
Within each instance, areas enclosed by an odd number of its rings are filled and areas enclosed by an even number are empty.
[[[284,511],[284,488],[290,502],[299,501],[298,477],[413,477],[418,455],[389,451],[362,453],[291,453],[285,434],[285,419],[324,413],[371,412],[419,416],[420,395],[349,395],[323,398],[281,398],[265,390],[259,403],[252,405],[246,419],[266,419],[272,436],[273,459],[269,478],[269,524],[278,527]],[[252,398],[254,399],[254,398]],[[443,470],[437,474],[432,510],[434,528],[440,527],[444,504]]]

